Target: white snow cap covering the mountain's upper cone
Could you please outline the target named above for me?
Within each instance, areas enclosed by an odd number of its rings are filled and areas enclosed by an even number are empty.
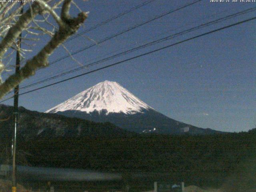
[[[142,112],[143,109],[153,108],[142,102],[117,82],[104,81],[47,110],[46,113],[66,110],[79,110],[87,113],[96,110],[100,113],[102,110],[106,110],[106,114],[120,112],[135,114]]]

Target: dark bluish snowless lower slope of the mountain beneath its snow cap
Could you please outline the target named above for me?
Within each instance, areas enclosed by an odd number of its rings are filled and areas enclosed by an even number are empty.
[[[184,122],[176,121],[154,110],[144,110],[143,113],[124,114],[110,113],[108,115],[98,112],[80,112],[76,110],[67,110],[57,112],[57,114],[77,117],[93,122],[111,122],[118,127],[136,133],[156,133],[156,134],[222,134],[221,132],[210,128],[199,128]]]

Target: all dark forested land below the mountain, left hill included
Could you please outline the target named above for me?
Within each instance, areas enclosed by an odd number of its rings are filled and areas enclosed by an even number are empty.
[[[12,108],[0,105],[0,111],[0,146],[8,150]],[[161,173],[198,186],[256,188],[255,129],[194,136],[135,134],[110,123],[24,108],[19,108],[19,113],[17,150],[26,158],[21,161],[18,156],[20,164],[114,171],[128,179],[134,173]],[[1,163],[6,154],[2,151]],[[150,179],[152,183],[156,178]]]

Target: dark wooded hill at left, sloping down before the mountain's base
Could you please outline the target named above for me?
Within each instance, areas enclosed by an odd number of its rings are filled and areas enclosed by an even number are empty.
[[[0,136],[10,138],[13,107],[0,105]],[[53,137],[134,135],[109,122],[97,123],[58,114],[46,114],[19,108],[18,136],[24,140]]]

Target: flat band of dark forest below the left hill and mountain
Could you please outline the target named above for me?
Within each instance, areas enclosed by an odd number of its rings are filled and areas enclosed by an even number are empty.
[[[144,174],[148,182],[162,177],[187,185],[256,188],[256,130],[206,136],[37,138],[18,140],[18,150],[31,154],[26,158],[32,166],[120,172],[128,182],[136,180],[134,173],[150,172]]]

